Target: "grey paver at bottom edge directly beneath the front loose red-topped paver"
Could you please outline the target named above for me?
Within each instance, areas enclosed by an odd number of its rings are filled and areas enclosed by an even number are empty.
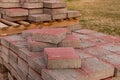
[[[90,80],[86,72],[82,69],[58,69],[58,70],[42,70],[42,78],[44,80]]]

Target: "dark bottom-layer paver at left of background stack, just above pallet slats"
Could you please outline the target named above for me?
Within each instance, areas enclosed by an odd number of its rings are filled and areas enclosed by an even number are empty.
[[[3,15],[3,18],[8,20],[8,21],[23,21],[23,20],[27,20],[28,19],[27,16],[9,17],[9,16],[6,16],[6,15]]]

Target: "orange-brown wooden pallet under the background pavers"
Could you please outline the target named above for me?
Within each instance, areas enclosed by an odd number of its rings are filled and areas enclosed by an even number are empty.
[[[30,22],[30,21],[17,21],[11,22],[5,19],[0,19],[0,36],[21,33],[24,30],[44,28],[44,27],[67,27],[70,25],[79,24],[78,18],[55,20],[49,22]]]

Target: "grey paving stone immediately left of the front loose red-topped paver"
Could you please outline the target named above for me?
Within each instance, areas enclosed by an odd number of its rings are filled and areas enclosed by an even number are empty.
[[[42,69],[46,68],[43,52],[39,54],[32,54],[28,60],[29,66],[39,74],[41,74]]]

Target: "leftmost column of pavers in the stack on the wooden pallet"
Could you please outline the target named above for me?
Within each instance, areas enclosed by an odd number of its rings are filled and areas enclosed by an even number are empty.
[[[20,0],[1,0],[2,17],[9,21],[27,20],[28,11],[22,9]]]

